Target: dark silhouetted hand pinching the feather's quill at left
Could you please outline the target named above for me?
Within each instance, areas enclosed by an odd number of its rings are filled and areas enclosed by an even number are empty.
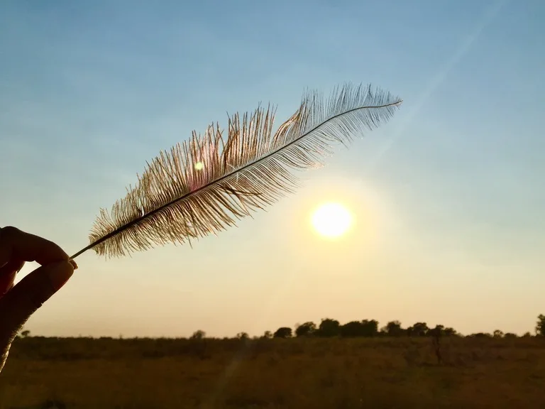
[[[41,267],[13,285],[26,261],[37,261]],[[26,320],[65,285],[75,268],[77,264],[52,241],[15,227],[0,229],[0,371]]]

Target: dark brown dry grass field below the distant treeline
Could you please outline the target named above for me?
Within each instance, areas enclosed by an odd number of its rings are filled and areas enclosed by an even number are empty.
[[[545,408],[545,339],[55,339],[13,344],[0,408]]]

